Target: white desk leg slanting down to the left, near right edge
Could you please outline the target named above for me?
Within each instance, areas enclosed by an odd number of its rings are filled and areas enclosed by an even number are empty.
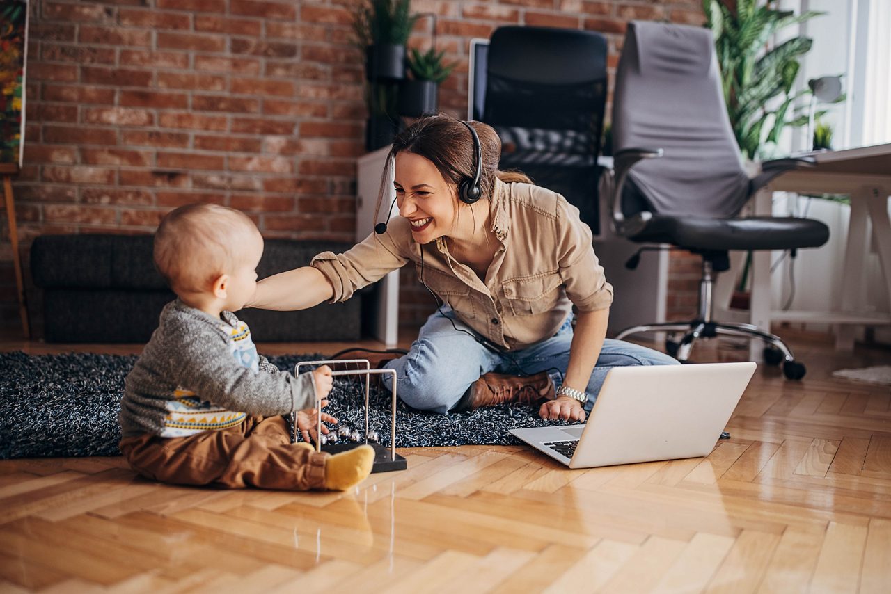
[[[868,205],[870,202],[871,191],[851,192],[851,218],[847,224],[845,266],[841,275],[842,312],[861,312],[863,309],[863,279],[865,278],[863,257],[866,254]],[[856,330],[857,326],[854,324],[837,324],[835,328],[836,350],[853,351]]]

